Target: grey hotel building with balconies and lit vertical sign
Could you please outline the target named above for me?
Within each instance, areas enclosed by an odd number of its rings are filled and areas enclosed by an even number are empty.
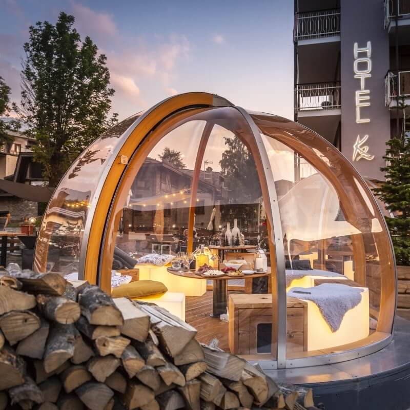
[[[410,1],[295,0],[294,52],[295,120],[383,179],[410,98]]]

